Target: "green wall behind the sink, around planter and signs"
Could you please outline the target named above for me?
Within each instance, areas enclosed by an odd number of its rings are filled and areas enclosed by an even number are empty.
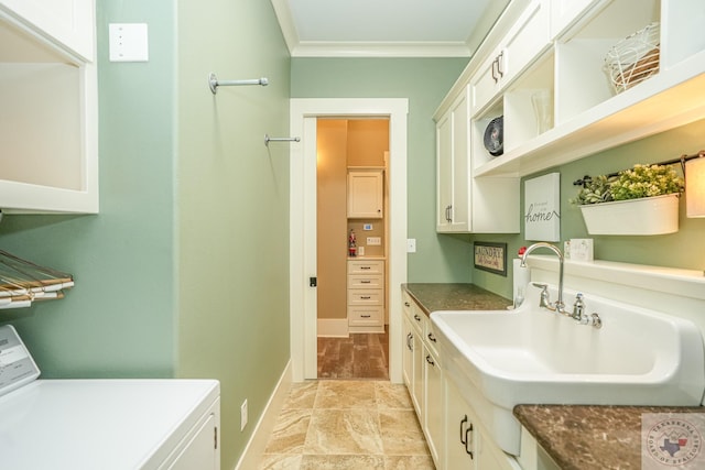
[[[685,204],[680,204],[680,229],[676,233],[650,237],[589,236],[578,207],[568,203],[575,197],[577,187],[573,182],[584,175],[598,175],[629,168],[637,163],[658,163],[692,154],[705,145],[705,120],[697,121],[658,135],[631,142],[609,151],[588,156],[566,165],[551,168],[540,174],[522,178],[540,176],[545,173],[561,173],[561,240],[571,238],[593,238],[595,240],[595,259],[625,263],[670,266],[687,270],[705,269],[705,219],[685,217]],[[680,167],[676,165],[680,172]],[[522,200],[523,208],[523,200]],[[471,236],[470,240],[501,241],[508,243],[510,258],[516,258],[517,250],[530,242],[518,236]],[[561,249],[563,244],[561,242]],[[511,298],[511,270],[507,277],[474,270],[473,282],[492,292]]]

